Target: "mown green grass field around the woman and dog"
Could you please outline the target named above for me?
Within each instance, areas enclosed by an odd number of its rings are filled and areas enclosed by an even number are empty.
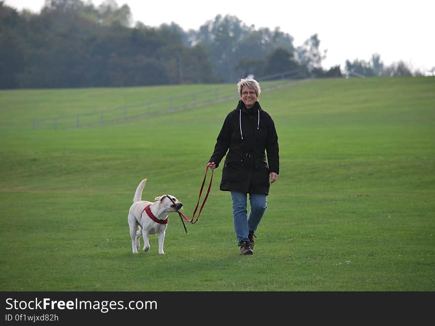
[[[435,290],[433,77],[311,80],[261,93],[281,171],[252,256],[238,255],[220,168],[188,233],[170,215],[166,255],[155,235],[133,255],[127,223],[143,178],[142,198],[173,194],[191,217],[237,99],[32,129],[33,119],[213,87],[222,85],[0,91],[0,290]]]

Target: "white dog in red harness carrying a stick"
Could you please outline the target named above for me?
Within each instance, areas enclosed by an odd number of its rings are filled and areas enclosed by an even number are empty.
[[[159,254],[164,254],[163,242],[165,241],[166,228],[168,226],[168,214],[178,212],[183,206],[174,196],[163,195],[156,197],[155,202],[142,200],[142,190],[146,179],[137,186],[133,198],[133,204],[129,210],[129,226],[131,237],[131,248],[133,253],[139,250],[139,237],[143,236],[143,251],[150,248],[148,234],[158,233]],[[139,227],[139,230],[137,230]]]

